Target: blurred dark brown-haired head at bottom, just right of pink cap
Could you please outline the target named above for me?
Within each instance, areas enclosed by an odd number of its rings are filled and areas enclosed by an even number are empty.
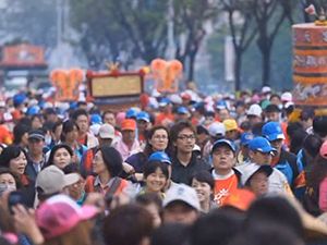
[[[147,210],[137,205],[125,205],[105,218],[102,235],[106,245],[138,245],[153,230],[153,217]]]

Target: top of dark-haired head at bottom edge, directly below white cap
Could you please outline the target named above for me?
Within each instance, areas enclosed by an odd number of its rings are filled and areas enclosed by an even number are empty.
[[[152,245],[187,245],[190,226],[183,223],[166,223],[154,231]]]

